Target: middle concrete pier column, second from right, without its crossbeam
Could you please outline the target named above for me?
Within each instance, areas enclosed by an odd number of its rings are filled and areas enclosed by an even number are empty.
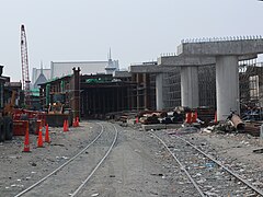
[[[182,106],[199,106],[198,67],[181,67]]]

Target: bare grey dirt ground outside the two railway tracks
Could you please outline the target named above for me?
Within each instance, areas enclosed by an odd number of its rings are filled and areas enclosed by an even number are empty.
[[[172,169],[176,163],[168,157],[163,147],[138,126],[117,128],[117,144],[91,182],[87,183],[84,196],[185,196],[188,188],[176,182],[178,174]],[[94,120],[81,121],[80,127],[70,128],[68,132],[64,132],[62,128],[50,128],[52,143],[36,148],[37,137],[31,135],[28,153],[22,152],[23,137],[0,143],[0,196],[14,196],[54,171],[82,150],[98,130],[100,126]],[[244,171],[256,169],[263,172],[263,153],[253,152],[263,148],[263,140],[244,134],[181,130],[180,135],[194,144],[213,147],[217,155],[241,163]],[[161,131],[175,134],[178,129]]]

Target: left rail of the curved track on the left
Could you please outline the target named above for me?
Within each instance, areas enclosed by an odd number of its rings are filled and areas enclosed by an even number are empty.
[[[73,158],[69,159],[67,162],[65,162],[62,165],[60,165],[59,167],[57,167],[55,171],[53,171],[52,173],[49,173],[48,175],[46,175],[45,177],[43,177],[42,179],[39,179],[38,182],[36,182],[35,184],[31,185],[30,187],[27,187],[26,189],[22,190],[21,193],[19,193],[18,195],[15,195],[14,197],[20,197],[22,195],[24,195],[25,193],[30,192],[31,189],[33,189],[34,187],[41,185],[45,179],[47,179],[48,177],[50,177],[52,175],[54,175],[55,173],[57,173],[58,171],[60,171],[62,167],[65,167],[66,165],[68,165],[70,162],[72,162],[73,160],[76,160],[76,158],[78,158],[80,154],[82,154],[90,146],[92,146],[100,137],[101,135],[104,132],[104,127],[98,123],[101,126],[101,132],[84,148],[82,149],[79,153],[77,153]]]

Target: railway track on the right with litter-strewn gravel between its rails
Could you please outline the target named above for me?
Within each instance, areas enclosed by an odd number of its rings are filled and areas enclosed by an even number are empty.
[[[260,188],[190,141],[179,136],[171,140],[167,135],[149,134],[164,146],[199,196],[263,196]]]

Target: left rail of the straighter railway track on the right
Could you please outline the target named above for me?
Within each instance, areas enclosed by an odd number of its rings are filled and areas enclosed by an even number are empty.
[[[193,177],[190,175],[190,173],[186,171],[186,169],[184,167],[184,165],[179,161],[179,159],[174,155],[174,153],[168,148],[167,143],[159,138],[157,135],[155,135],[151,131],[148,131],[149,134],[151,134],[155,138],[157,138],[164,147],[165,149],[170,152],[170,154],[173,157],[173,159],[178,162],[178,164],[180,165],[180,169],[184,171],[184,173],[186,174],[186,176],[188,177],[188,179],[192,182],[192,184],[194,185],[194,187],[198,190],[199,195],[202,197],[205,197],[206,195],[203,193],[203,190],[199,188],[199,186],[196,184],[196,182],[193,179]]]

